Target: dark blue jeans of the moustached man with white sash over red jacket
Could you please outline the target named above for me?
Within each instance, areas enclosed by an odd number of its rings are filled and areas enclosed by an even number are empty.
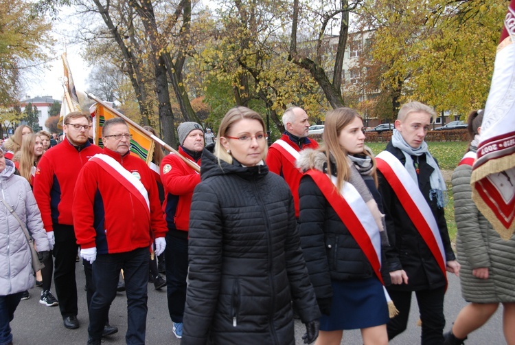
[[[148,248],[117,254],[98,254],[93,262],[95,291],[89,305],[88,333],[100,340],[109,307],[116,296],[119,271],[124,269],[127,296],[126,344],[145,344],[147,320]]]

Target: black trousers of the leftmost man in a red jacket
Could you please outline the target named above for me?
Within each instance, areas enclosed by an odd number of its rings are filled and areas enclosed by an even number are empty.
[[[75,266],[78,251],[72,225],[54,224],[54,285],[62,318],[77,315]]]

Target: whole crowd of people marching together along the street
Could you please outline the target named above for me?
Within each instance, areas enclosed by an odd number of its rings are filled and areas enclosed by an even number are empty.
[[[67,115],[60,142],[19,126],[0,149],[0,345],[13,344],[10,322],[34,284],[67,329],[80,327],[78,253],[87,344],[118,331],[108,313],[122,271],[126,344],[145,343],[150,280],[166,286],[181,344],[295,344],[294,318],[306,344],[341,344],[350,329],[365,345],[388,344],[407,328],[415,293],[421,344],[464,344],[501,303],[514,345],[515,237],[500,238],[470,190],[482,115],[470,113],[470,146],[453,173],[457,256],[446,183],[424,140],[435,111],[420,102],[400,107],[375,157],[349,108],[325,115],[320,145],[300,107],[284,111],[270,147],[261,115],[246,107],[230,109],[216,135],[183,122],[178,151],[157,147],[153,168],[130,155],[122,118],[104,122],[103,148],[89,140],[87,113]],[[444,333],[448,273],[470,304]]]

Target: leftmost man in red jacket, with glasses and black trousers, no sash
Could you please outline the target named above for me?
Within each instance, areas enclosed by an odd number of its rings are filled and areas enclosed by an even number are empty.
[[[88,141],[88,113],[74,111],[65,118],[65,139],[41,157],[34,176],[34,197],[43,225],[54,244],[54,283],[59,309],[67,329],[78,329],[77,284],[78,250],[71,205],[80,168],[102,149]]]

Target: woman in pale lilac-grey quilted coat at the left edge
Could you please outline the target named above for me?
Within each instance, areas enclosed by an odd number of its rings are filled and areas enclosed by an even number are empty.
[[[14,164],[0,149],[0,199],[18,214],[34,239],[41,257],[48,256],[49,244],[41,214],[29,182],[14,175]],[[10,322],[23,291],[36,282],[27,238],[20,223],[0,201],[0,344],[12,344]]]

